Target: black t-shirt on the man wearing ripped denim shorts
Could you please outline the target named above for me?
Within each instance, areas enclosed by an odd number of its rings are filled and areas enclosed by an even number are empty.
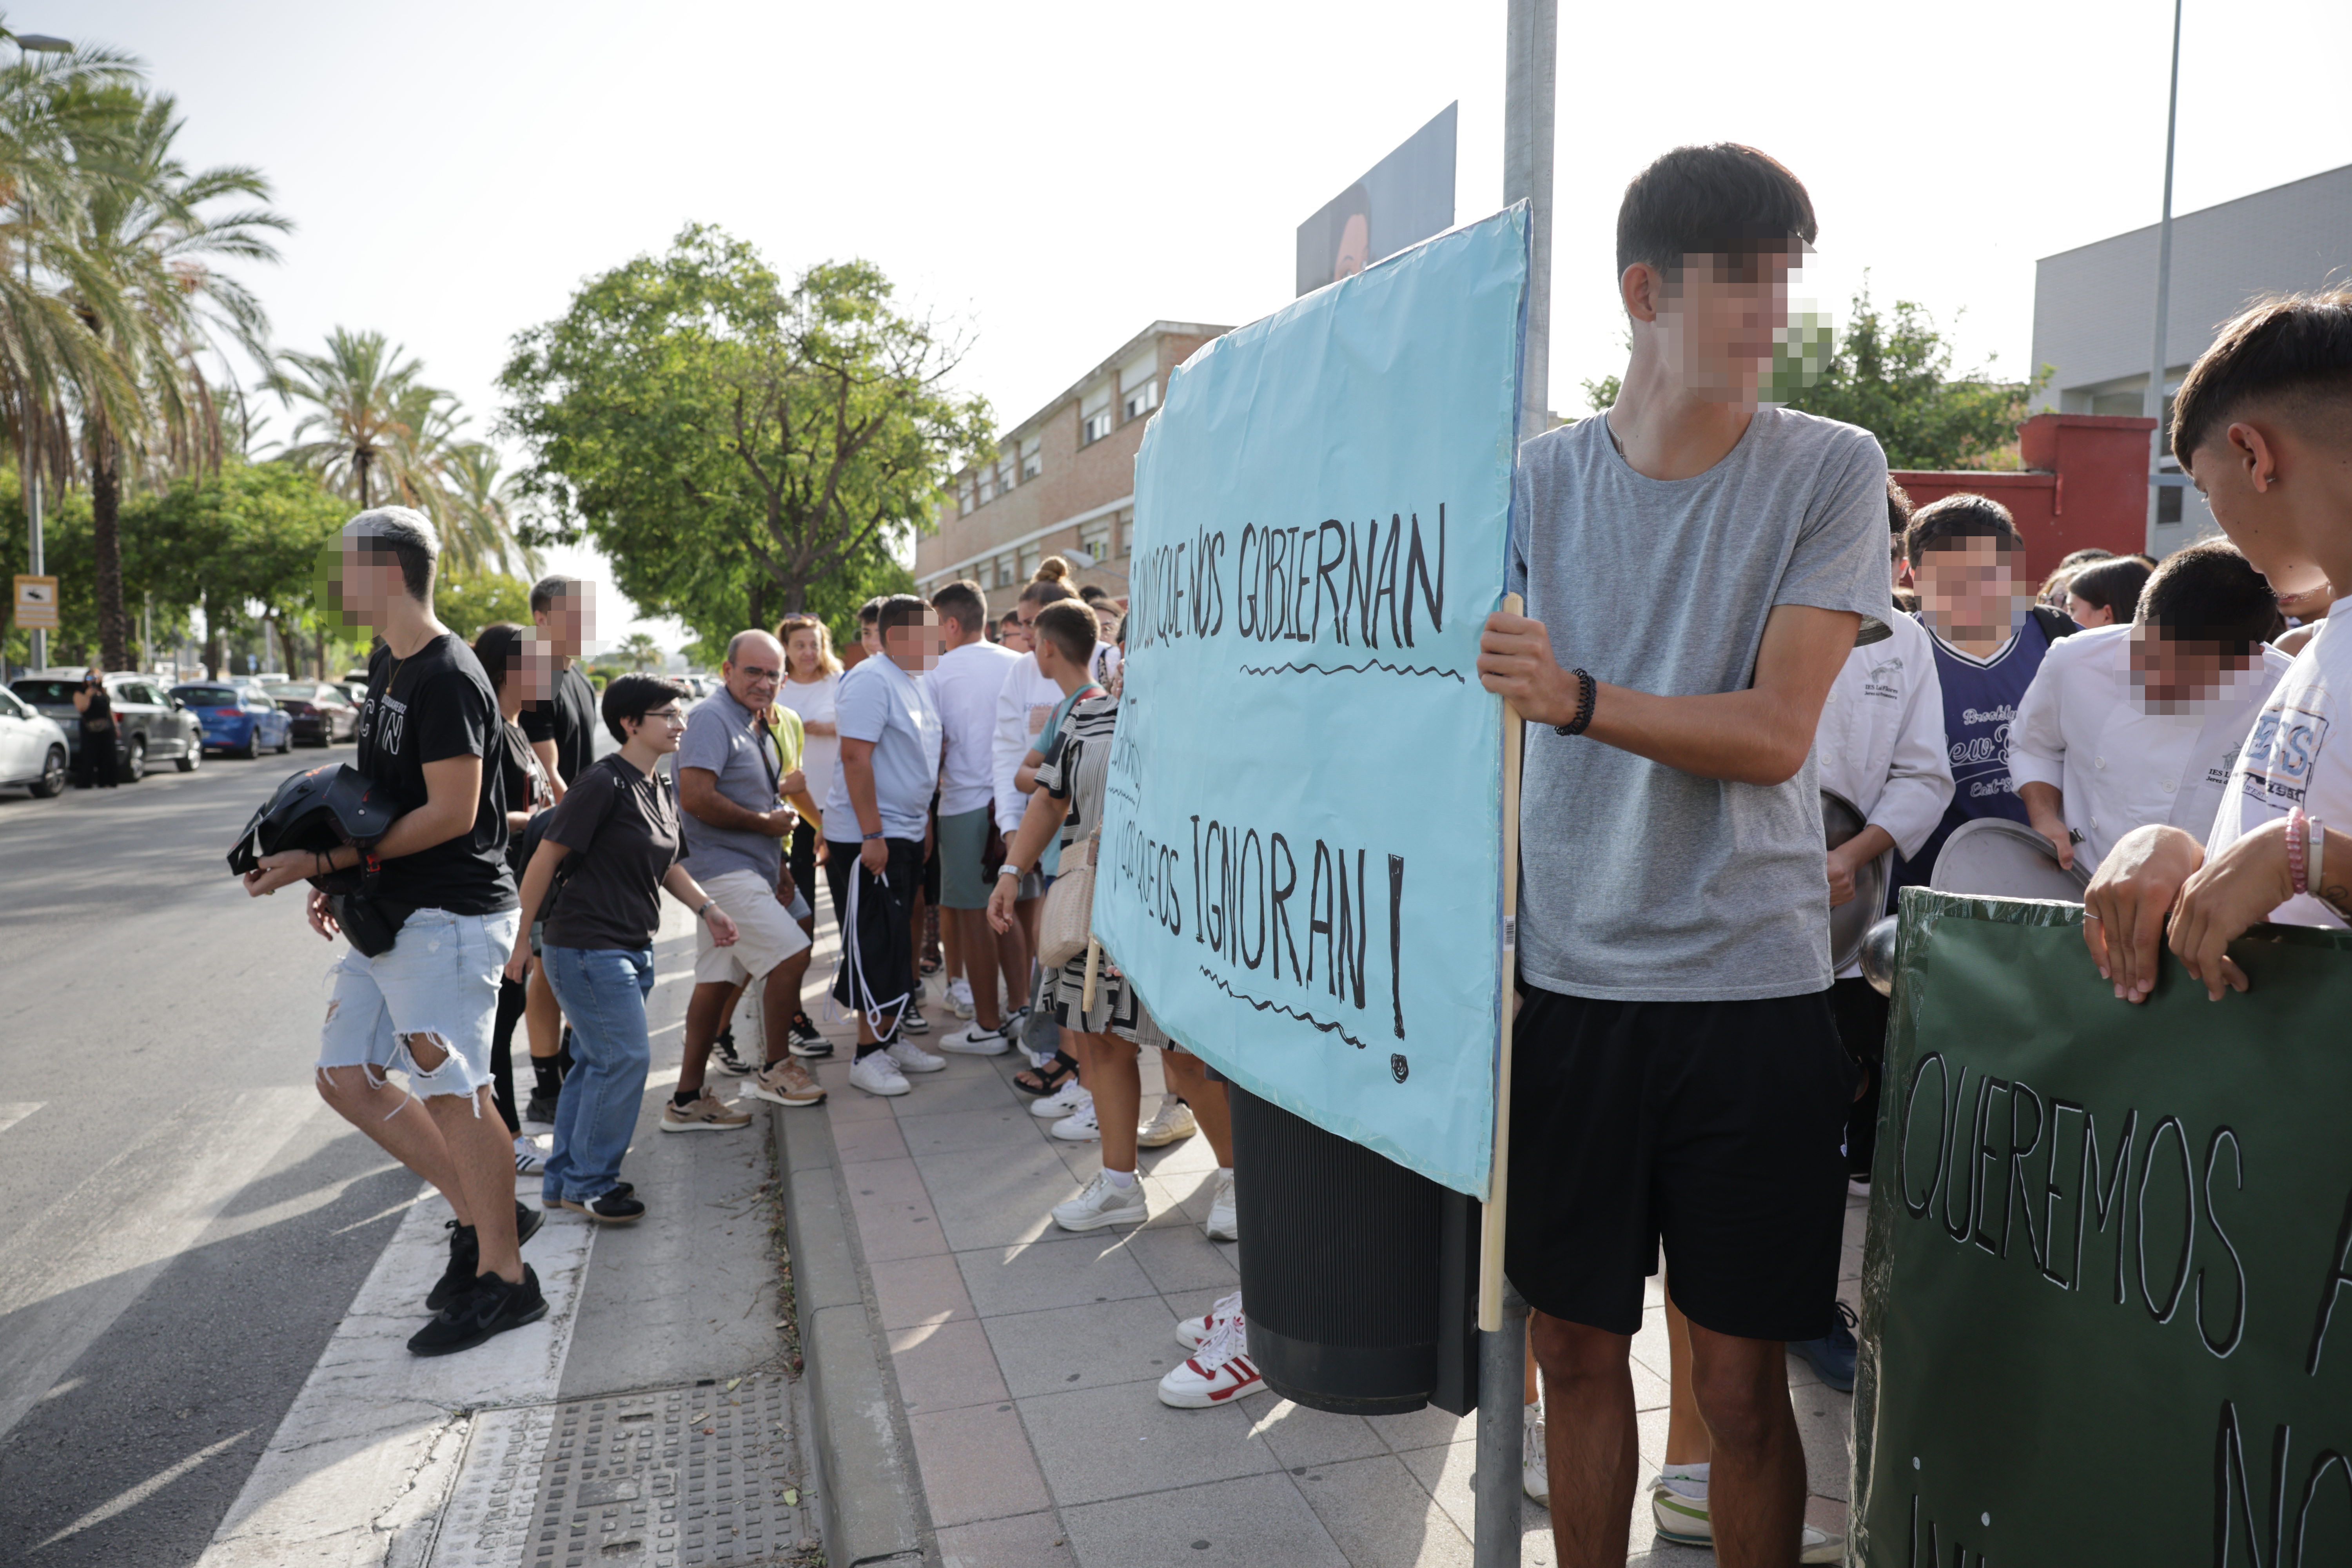
[[[452,914],[515,907],[515,877],[506,870],[506,778],[496,757],[503,724],[482,661],[456,632],[442,632],[407,658],[393,658],[383,644],[369,654],[353,759],[360,773],[390,790],[402,811],[416,811],[426,804],[428,762],[482,757],[473,830],[386,860],[376,889],[386,900]]]

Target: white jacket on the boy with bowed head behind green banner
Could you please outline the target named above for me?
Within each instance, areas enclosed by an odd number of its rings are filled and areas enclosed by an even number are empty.
[[[2131,628],[2100,625],[2051,646],[2009,731],[2009,776],[2056,785],[2079,835],[2074,865],[2096,872],[2133,827],[2213,830],[2246,731],[2286,675],[2265,646],[2199,712],[2147,712],[2131,686]]]

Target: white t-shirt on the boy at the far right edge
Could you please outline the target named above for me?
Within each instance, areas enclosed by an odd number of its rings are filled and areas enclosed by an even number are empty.
[[[2213,813],[2213,832],[2206,835],[2209,860],[2293,806],[2331,827],[2352,827],[2352,733],[2328,750],[2328,736],[2352,726],[2352,705],[2340,696],[2345,691],[2352,691],[2352,635],[2338,632],[2331,616],[2303,644],[2253,719],[2220,795],[2220,811]],[[2326,877],[2336,882],[2343,870],[2331,863]],[[2270,919],[2286,926],[2345,924],[2310,893],[2288,898]]]

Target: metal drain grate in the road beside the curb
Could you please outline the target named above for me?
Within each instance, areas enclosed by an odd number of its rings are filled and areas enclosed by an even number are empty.
[[[790,1563],[814,1540],[795,1495],[790,1385],[576,1399],[480,1418],[440,1568]]]

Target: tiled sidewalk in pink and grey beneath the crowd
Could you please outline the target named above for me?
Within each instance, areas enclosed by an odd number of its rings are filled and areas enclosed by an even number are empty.
[[[811,992],[826,973],[830,954]],[[924,1011],[924,1044],[962,1027],[936,1001]],[[1475,1418],[1364,1420],[1272,1394],[1216,1410],[1155,1399],[1183,1354],[1176,1321],[1237,1284],[1237,1244],[1200,1229],[1209,1140],[1143,1152],[1148,1225],[1058,1229],[1049,1208],[1101,1168],[1101,1147],[1061,1143],[1028,1114],[1028,1095],[1009,1084],[1023,1065],[1018,1053],[950,1056],[896,1100],[849,1088],[847,1046],[818,1070],[946,1568],[1468,1568]],[[1157,1093],[1160,1063],[1145,1051],[1145,1117]],[[1853,1201],[1849,1302],[1860,1237]],[[1658,1300],[1653,1281],[1635,1340],[1646,1469],[1665,1446]],[[1851,1399],[1797,1359],[1790,1382],[1816,1493],[1809,1516],[1842,1530]],[[1548,1514],[1529,1505],[1524,1528],[1524,1563],[1552,1563]],[[1630,1561],[1712,1559],[1653,1544],[1644,1495]]]

